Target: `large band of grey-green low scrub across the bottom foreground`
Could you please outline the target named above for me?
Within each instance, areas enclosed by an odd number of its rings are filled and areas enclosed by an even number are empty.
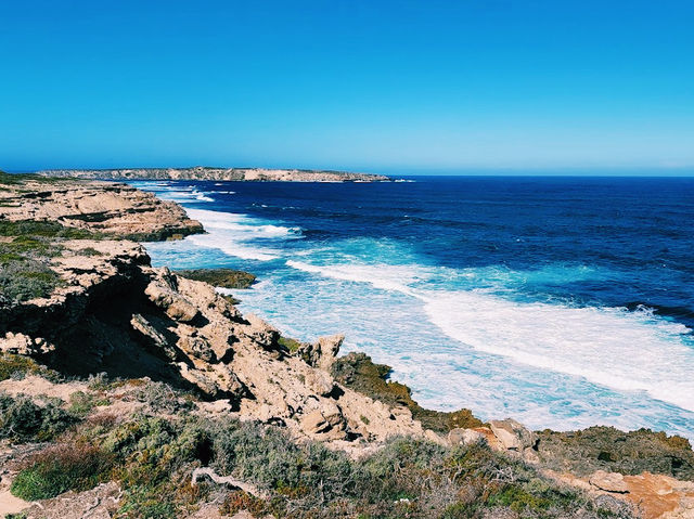
[[[73,393],[67,411],[57,402],[37,405],[25,397],[3,397],[2,405],[24,410],[12,414],[25,416],[18,421],[26,430],[23,440],[54,441],[24,459],[11,486],[14,495],[50,498],[115,480],[124,491],[118,517],[134,519],[183,517],[211,502],[228,515],[246,509],[255,517],[307,519],[632,517],[626,505],[599,506],[484,443],[450,449],[395,438],[355,460],[320,443],[294,442],[275,426],[202,417],[185,404],[189,395],[164,384],[100,378],[99,387]],[[104,388],[132,394],[145,406],[128,417],[93,414]],[[165,401],[178,403],[171,407]],[[192,485],[198,467],[255,490],[209,480]]]

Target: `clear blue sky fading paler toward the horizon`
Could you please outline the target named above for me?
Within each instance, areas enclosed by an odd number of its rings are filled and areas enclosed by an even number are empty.
[[[0,0],[0,168],[694,171],[692,0]]]

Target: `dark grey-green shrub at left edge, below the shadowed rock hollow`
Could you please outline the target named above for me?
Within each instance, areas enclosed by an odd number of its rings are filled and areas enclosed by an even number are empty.
[[[48,441],[77,421],[53,401],[37,405],[29,397],[0,393],[0,439]]]

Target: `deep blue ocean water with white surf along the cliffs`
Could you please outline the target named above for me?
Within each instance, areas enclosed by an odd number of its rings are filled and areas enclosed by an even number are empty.
[[[208,231],[154,264],[255,273],[243,311],[345,333],[425,406],[694,439],[694,179],[133,184]]]

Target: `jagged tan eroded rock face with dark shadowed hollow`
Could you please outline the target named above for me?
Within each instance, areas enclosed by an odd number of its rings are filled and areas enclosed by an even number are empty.
[[[336,384],[330,367],[343,336],[290,354],[274,327],[242,316],[207,283],[150,267],[138,244],[62,245],[52,267],[65,285],[49,299],[16,306],[0,327],[0,348],[41,356],[67,374],[149,376],[194,388],[229,401],[241,418],[283,425],[296,437],[355,444],[424,434],[409,410]],[[85,248],[98,254],[80,255]],[[39,343],[54,343],[54,353]]]

